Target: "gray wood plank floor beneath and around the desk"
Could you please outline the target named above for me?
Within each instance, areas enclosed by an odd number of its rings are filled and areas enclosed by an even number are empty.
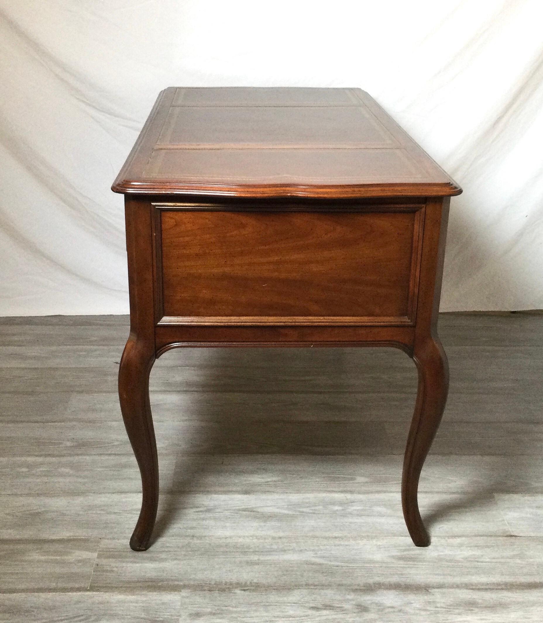
[[[543,316],[440,318],[451,388],[400,507],[414,365],[177,350],[151,374],[156,542],[116,373],[126,316],[0,318],[0,621],[509,622],[543,611]]]

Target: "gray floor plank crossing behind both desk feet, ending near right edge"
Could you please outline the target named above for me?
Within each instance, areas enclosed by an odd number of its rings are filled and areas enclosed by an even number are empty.
[[[0,496],[0,538],[130,535],[139,493]],[[421,493],[435,536],[508,536],[491,495]],[[156,535],[407,536],[396,493],[184,493],[161,496]]]

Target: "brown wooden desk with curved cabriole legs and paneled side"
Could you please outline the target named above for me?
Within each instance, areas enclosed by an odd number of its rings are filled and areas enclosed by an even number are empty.
[[[436,333],[461,189],[356,88],[167,88],[112,187],[125,194],[130,336],[121,411],[147,549],[158,504],[149,372],[187,346],[395,346],[418,368],[405,523],[445,407]]]

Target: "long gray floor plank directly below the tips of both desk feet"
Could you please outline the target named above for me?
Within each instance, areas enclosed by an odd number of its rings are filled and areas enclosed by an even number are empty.
[[[533,537],[436,538],[428,548],[408,537],[164,538],[145,554],[102,540],[91,588],[508,589],[541,586],[542,560]]]

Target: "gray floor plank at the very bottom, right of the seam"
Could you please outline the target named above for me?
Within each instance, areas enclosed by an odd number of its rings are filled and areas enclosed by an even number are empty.
[[[191,589],[181,603],[181,623],[539,623],[543,589]]]

